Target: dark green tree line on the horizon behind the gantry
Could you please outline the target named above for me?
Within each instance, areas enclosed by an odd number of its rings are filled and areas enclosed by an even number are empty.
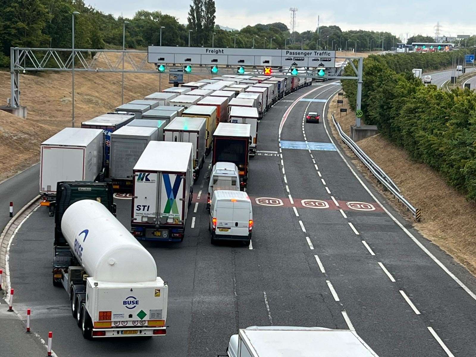
[[[163,46],[279,48],[315,50],[390,50],[398,39],[389,32],[342,31],[321,26],[319,31],[290,33],[280,22],[225,31],[215,24],[215,1],[191,0],[188,23],[161,11],[139,10],[134,17],[118,19],[104,14],[84,0],[3,0],[0,11],[0,67],[10,66],[10,47],[71,48],[71,16],[75,17],[75,47],[80,49],[122,48],[125,25],[126,48]],[[126,23],[127,21],[127,23]],[[189,32],[189,30],[192,30]],[[253,41],[254,39],[254,41]]]

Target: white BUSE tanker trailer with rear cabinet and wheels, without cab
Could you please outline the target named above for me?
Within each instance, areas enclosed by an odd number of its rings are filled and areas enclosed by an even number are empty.
[[[101,203],[70,205],[61,233],[74,254],[61,284],[84,338],[164,336],[169,287],[154,258]]]

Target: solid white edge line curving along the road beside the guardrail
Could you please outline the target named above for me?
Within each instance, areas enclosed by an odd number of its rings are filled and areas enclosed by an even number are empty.
[[[456,284],[458,284],[461,288],[463,288],[466,293],[472,297],[474,300],[476,300],[476,294],[474,292],[472,292],[459,278],[456,277],[455,274],[453,274],[448,268],[445,267],[445,265],[438,259],[436,258],[417,238],[415,238],[415,236],[413,234],[410,233],[410,231],[405,228],[401,223],[400,221],[398,221],[397,218],[395,218],[389,211],[387,208],[384,207],[384,205],[382,205],[380,203],[380,201],[377,199],[377,197],[372,193],[372,191],[370,191],[370,189],[367,187],[367,185],[364,183],[364,181],[362,181],[357,173],[355,172],[354,169],[352,169],[352,167],[349,165],[349,163],[347,162],[347,160],[344,158],[344,155],[342,155],[342,153],[340,152],[339,149],[337,149],[337,146],[336,146],[336,143],[334,142],[334,139],[331,137],[330,133],[329,133],[329,130],[327,129],[327,124],[326,124],[326,120],[324,118],[324,115],[326,113],[326,106],[327,106],[327,103],[329,102],[329,100],[334,96],[334,94],[336,94],[339,90],[341,89],[337,89],[334,93],[332,93],[332,95],[329,97],[329,99],[327,99],[327,102],[324,104],[324,110],[322,111],[323,113],[323,122],[324,122],[324,128],[326,129],[326,134],[327,134],[327,137],[329,138],[329,140],[334,144],[334,146],[336,147],[336,151],[337,153],[339,154],[340,158],[346,163],[347,165],[347,168],[352,172],[352,174],[355,176],[355,178],[357,178],[357,180],[360,182],[360,184],[362,185],[362,187],[368,192],[368,194],[375,200],[375,202],[377,202],[377,204],[384,210],[385,213],[387,213],[388,217],[390,217],[396,224],[398,227],[400,227],[404,232],[405,234],[411,239],[413,240],[413,242],[421,249],[423,250],[426,255],[428,257],[430,257],[440,268],[442,268],[446,274],[448,274],[455,282]]]

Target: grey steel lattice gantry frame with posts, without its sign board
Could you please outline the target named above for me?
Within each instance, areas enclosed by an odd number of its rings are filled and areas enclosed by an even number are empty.
[[[53,48],[10,48],[10,107],[20,107],[20,72],[26,71],[72,71],[72,59],[75,59],[74,71],[79,72],[106,72],[106,73],[162,73],[176,74],[177,69],[182,69],[181,64],[167,63],[163,72],[158,72],[156,65],[148,63],[147,50],[98,50],[98,49],[53,49]],[[362,89],[362,57],[336,57],[344,61],[333,76],[318,76],[318,68],[299,68],[299,74],[293,77],[312,77],[324,79],[357,79],[357,109],[360,109]],[[128,64],[129,69],[122,68],[122,60]],[[353,60],[358,60],[358,69]],[[343,69],[350,64],[356,76],[341,76]],[[175,70],[174,70],[175,69]],[[193,70],[194,75],[210,75],[210,65],[198,65]],[[291,67],[273,67],[273,77],[290,77]],[[249,74],[264,74],[264,67],[247,66]],[[184,73],[185,74],[185,73]],[[237,68],[223,66],[220,73],[236,74]],[[356,119],[360,126],[360,119]]]

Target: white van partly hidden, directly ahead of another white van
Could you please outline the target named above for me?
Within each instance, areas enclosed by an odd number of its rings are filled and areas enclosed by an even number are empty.
[[[217,189],[240,190],[238,167],[233,162],[217,162],[213,165],[208,182],[207,209],[210,209],[213,192]]]

